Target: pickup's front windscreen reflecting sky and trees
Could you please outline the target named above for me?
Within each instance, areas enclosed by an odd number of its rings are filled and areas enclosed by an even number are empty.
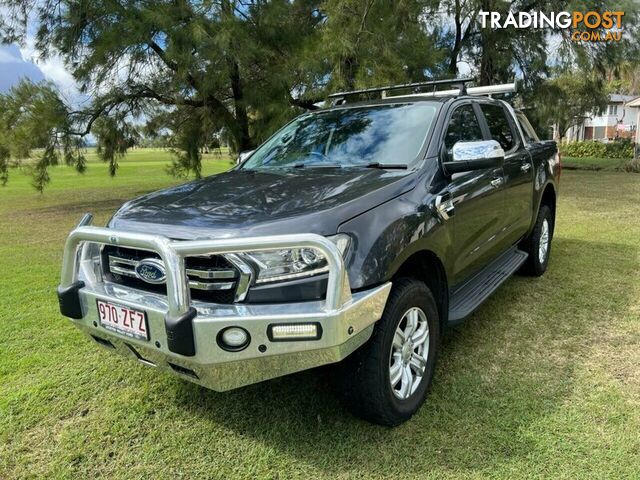
[[[389,104],[298,117],[259,147],[245,169],[408,165],[431,129],[437,104]]]

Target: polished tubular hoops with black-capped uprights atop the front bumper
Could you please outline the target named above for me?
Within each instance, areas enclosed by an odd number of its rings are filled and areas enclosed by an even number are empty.
[[[90,215],[85,215],[78,227],[69,234],[65,244],[58,288],[61,311],[71,318],[81,318],[84,315],[78,296],[78,291],[85,286],[85,282],[79,279],[82,252],[80,247],[83,244],[97,243],[156,252],[166,269],[168,311],[165,327],[169,348],[174,353],[184,356],[195,355],[192,321],[197,311],[191,305],[185,257],[283,248],[314,248],[324,255],[329,269],[323,310],[329,314],[334,313],[351,301],[349,279],[342,254],[333,242],[320,235],[309,233],[233,239],[171,240],[162,235],[90,226],[91,219]],[[69,305],[72,305],[72,308],[69,308]]]

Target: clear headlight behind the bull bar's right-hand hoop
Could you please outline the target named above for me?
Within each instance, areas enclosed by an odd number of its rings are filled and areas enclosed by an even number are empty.
[[[335,243],[340,253],[345,255],[349,248],[349,235],[339,233],[327,239]],[[329,271],[327,259],[315,248],[248,252],[243,256],[256,267],[257,284],[310,277]]]

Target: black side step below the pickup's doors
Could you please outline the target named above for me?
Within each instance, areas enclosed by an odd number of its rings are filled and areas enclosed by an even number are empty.
[[[451,292],[449,324],[462,321],[497,290],[527,259],[528,254],[516,247],[505,252]]]

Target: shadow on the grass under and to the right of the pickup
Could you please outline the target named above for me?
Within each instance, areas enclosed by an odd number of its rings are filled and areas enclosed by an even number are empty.
[[[394,429],[346,413],[331,367],[226,393],[175,382],[175,401],[332,476],[491,471],[547,448],[539,432],[575,394],[589,345],[630,305],[638,258],[628,245],[557,238],[544,277],[514,277],[447,332],[427,401]]]

